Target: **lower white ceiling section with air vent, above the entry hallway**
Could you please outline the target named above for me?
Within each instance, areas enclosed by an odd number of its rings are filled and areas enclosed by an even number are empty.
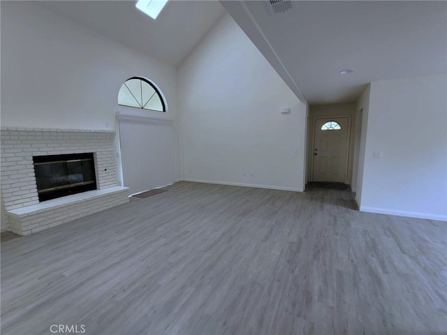
[[[446,1],[221,1],[298,98],[354,102],[369,82],[446,73]],[[353,73],[340,75],[346,68]]]

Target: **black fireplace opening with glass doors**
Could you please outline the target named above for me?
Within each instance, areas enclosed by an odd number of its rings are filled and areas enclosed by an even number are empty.
[[[93,153],[34,156],[39,201],[96,190]]]

